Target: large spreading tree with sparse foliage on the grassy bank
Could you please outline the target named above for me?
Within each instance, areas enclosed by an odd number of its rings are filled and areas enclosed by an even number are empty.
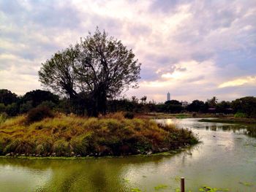
[[[89,115],[97,116],[99,112],[105,114],[107,99],[138,87],[139,74],[140,64],[132,50],[97,28],[94,34],[42,64],[39,80],[46,87],[67,93],[70,99],[83,95]]]

